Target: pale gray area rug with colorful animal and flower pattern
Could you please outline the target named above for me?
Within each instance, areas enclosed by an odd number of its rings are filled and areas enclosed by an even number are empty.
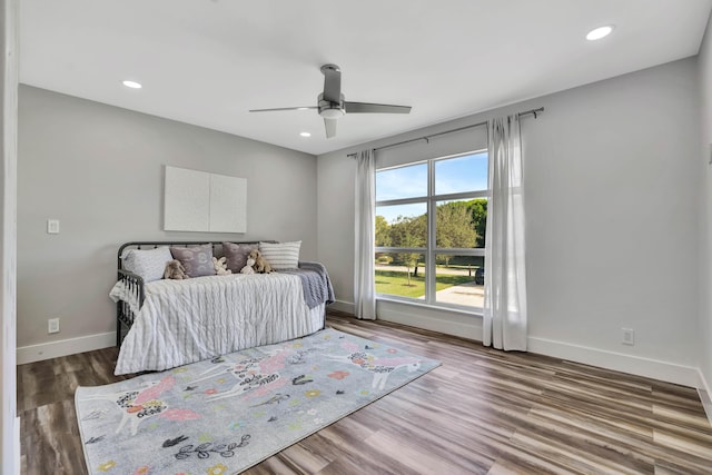
[[[239,473],[439,366],[335,329],[79,387],[90,474]],[[397,397],[397,394],[390,397]]]

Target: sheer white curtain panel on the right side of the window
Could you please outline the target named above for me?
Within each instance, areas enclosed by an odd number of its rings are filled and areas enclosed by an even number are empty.
[[[522,142],[516,115],[488,121],[490,202],[482,343],[526,350]]]

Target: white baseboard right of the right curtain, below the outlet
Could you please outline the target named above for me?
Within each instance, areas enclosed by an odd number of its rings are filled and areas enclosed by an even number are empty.
[[[643,358],[536,337],[530,337],[527,339],[527,348],[531,353],[537,353],[540,355],[553,356],[555,358],[680,384],[682,386],[699,387],[701,384],[701,373],[692,366],[683,366],[652,358]]]

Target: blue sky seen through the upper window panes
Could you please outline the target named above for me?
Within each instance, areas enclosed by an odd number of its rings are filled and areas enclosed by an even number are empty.
[[[487,152],[435,161],[435,194],[487,189]],[[392,168],[376,172],[376,201],[427,196],[427,164]],[[393,222],[398,215],[421,216],[425,204],[377,207],[376,215]]]

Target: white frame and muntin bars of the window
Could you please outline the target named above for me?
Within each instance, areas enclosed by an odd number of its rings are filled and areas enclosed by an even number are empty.
[[[380,169],[376,169],[375,174],[377,179],[377,174],[379,171],[393,170],[397,168],[405,168],[413,165],[427,164],[427,196],[418,196],[412,198],[398,198],[398,199],[386,199],[386,200],[376,200],[374,205],[374,211],[379,206],[397,206],[397,205],[412,205],[412,204],[426,204],[426,212],[427,212],[427,235],[425,239],[425,247],[393,247],[393,246],[375,246],[374,247],[374,258],[376,253],[417,253],[425,256],[425,298],[417,299],[411,297],[403,297],[393,294],[378,294],[376,293],[377,299],[384,300],[396,300],[406,304],[417,304],[421,306],[426,306],[431,308],[447,308],[453,310],[465,310],[468,314],[482,314],[482,307],[475,307],[469,305],[457,305],[457,304],[448,304],[444,301],[436,300],[436,255],[452,255],[452,256],[475,256],[483,257],[485,256],[485,247],[482,248],[438,248],[436,247],[436,220],[437,220],[437,202],[438,201],[456,201],[464,199],[476,199],[476,198],[486,198],[490,199],[490,189],[488,187],[484,190],[477,191],[464,191],[464,192],[454,192],[454,194],[443,194],[435,195],[435,164],[442,160],[449,160],[454,158],[466,157],[471,155],[479,155],[487,154],[487,184],[490,182],[490,157],[488,150],[486,148],[478,150],[471,150],[459,154],[452,154],[442,157],[427,158],[424,160],[416,160],[408,164],[396,165],[393,167],[384,167]],[[375,212],[374,212],[375,214]],[[486,246],[486,244],[485,244]],[[375,270],[374,270],[375,275]],[[375,290],[375,289],[374,289]]]

